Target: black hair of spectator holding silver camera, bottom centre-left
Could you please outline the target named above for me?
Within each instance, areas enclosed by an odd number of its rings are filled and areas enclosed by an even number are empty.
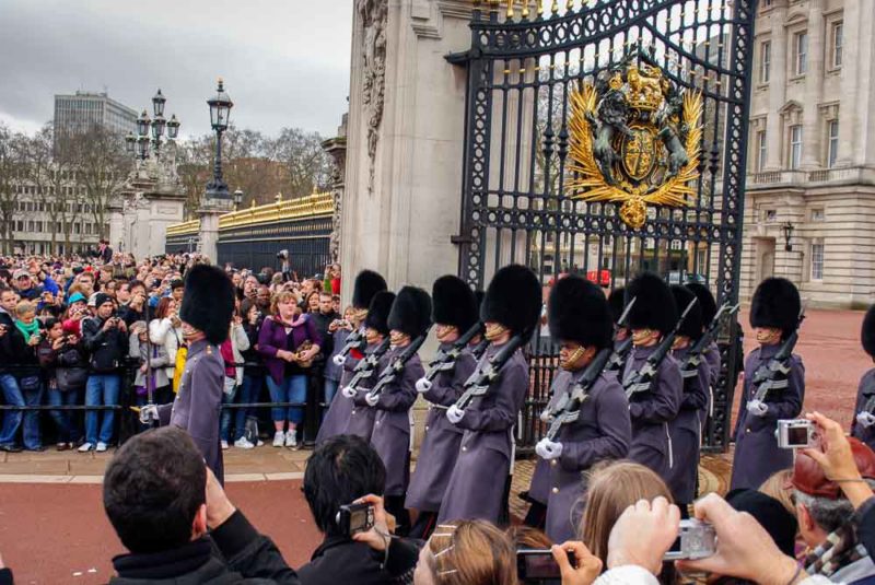
[[[328,536],[339,535],[340,506],[373,493],[383,495],[386,468],[370,443],[355,435],[329,438],[313,452],[304,471],[304,498],[316,526]]]

